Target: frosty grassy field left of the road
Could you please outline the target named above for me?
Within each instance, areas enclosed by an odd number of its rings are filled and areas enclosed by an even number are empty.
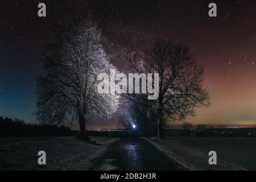
[[[92,137],[96,144],[74,137],[0,138],[0,170],[88,170],[118,139]],[[38,151],[46,152],[46,165],[38,164]]]

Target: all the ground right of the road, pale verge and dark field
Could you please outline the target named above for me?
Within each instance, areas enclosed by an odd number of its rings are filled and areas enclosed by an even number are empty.
[[[195,170],[256,170],[256,138],[150,138],[162,150]],[[217,165],[208,164],[208,152],[217,152]]]

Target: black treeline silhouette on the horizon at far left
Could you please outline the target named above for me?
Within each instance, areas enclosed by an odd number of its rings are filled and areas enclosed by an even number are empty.
[[[0,137],[67,137],[76,134],[77,131],[65,126],[38,125],[0,116]]]

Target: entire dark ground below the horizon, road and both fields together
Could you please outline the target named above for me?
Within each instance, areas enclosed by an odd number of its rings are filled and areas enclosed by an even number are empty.
[[[73,137],[0,137],[0,170],[256,170],[256,138],[92,140],[96,144]],[[47,154],[46,166],[38,164],[41,150]],[[212,150],[217,165],[208,163]]]

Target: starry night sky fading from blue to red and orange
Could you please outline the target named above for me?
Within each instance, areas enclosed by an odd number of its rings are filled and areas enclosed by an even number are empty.
[[[207,68],[212,105],[197,110],[193,123],[256,126],[256,1],[39,1],[0,4],[0,115],[37,122],[36,76],[40,51],[51,41],[54,24],[90,12],[102,31],[112,63],[126,71],[123,56],[156,39],[175,39],[192,49]],[[217,17],[208,5],[217,4]],[[93,127],[105,127],[99,124]]]

